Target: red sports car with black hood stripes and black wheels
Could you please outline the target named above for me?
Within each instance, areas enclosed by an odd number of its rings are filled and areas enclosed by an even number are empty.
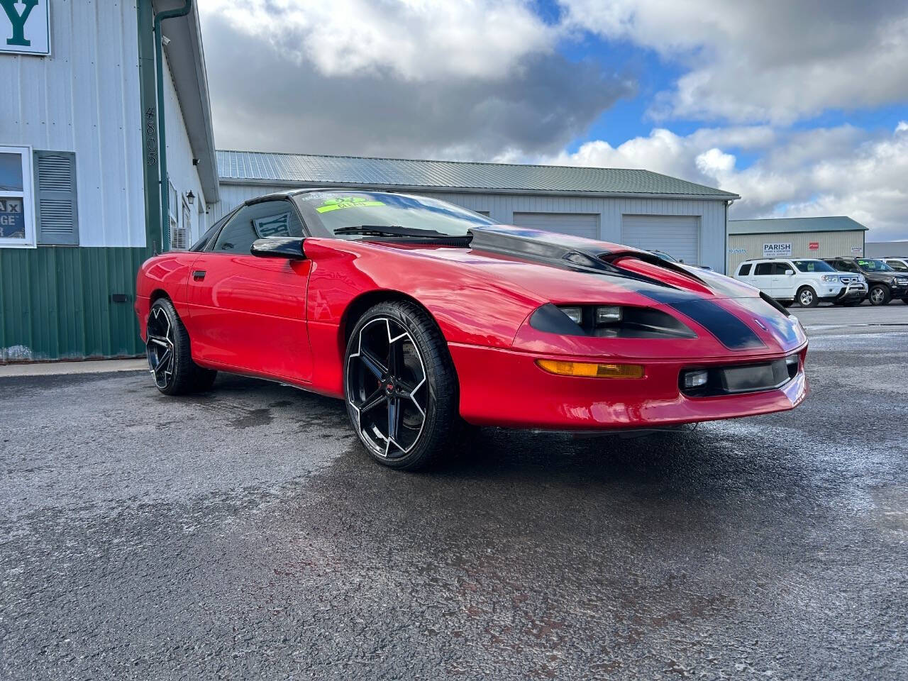
[[[159,390],[216,371],[344,400],[372,457],[415,469],[460,423],[654,429],[790,410],[807,339],[745,284],[613,243],[399,193],[247,201],[145,262]]]

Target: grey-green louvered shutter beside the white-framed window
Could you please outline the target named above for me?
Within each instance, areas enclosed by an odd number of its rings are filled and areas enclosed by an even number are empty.
[[[35,152],[35,222],[38,244],[79,245],[75,154]]]

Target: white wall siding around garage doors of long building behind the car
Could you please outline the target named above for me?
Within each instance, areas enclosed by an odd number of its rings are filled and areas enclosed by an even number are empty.
[[[209,222],[232,210],[238,203],[268,192],[291,189],[291,186],[254,184],[221,184],[221,202],[214,207]],[[415,192],[414,192],[415,193]],[[700,222],[700,257],[698,264],[725,271],[725,202],[686,199],[611,198],[578,196],[544,196],[538,194],[485,194],[467,192],[419,192],[442,201],[457,203],[471,211],[489,212],[504,224],[514,223],[514,213],[586,213],[596,214],[599,238],[620,243],[624,215],[684,215]]]

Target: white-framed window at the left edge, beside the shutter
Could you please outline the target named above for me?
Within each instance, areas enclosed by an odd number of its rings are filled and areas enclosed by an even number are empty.
[[[35,248],[32,149],[0,146],[0,247]]]

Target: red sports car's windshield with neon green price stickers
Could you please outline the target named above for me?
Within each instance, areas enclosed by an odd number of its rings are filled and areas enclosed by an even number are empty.
[[[467,236],[472,227],[495,224],[478,212],[423,196],[384,192],[303,192],[293,199],[313,236],[361,239],[366,235],[411,238]],[[405,233],[401,233],[405,232]]]

